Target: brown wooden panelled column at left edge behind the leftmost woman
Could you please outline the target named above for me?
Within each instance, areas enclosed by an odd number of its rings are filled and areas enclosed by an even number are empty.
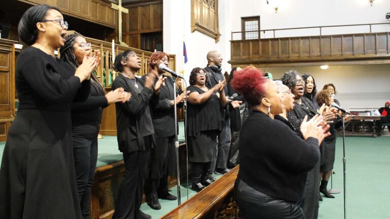
[[[15,117],[15,41],[0,39],[0,141]]]

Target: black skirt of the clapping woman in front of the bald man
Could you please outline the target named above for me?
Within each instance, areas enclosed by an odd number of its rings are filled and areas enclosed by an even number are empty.
[[[211,162],[219,130],[201,131],[195,136],[188,136],[188,157],[191,162]]]

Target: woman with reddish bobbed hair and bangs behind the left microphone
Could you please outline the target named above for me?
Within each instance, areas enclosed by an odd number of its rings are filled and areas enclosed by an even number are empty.
[[[150,73],[156,80],[164,74],[158,68],[160,64],[168,67],[169,54],[154,52],[149,59]],[[168,193],[168,175],[176,175],[175,157],[175,109],[174,93],[176,89],[172,78],[168,77],[160,88],[159,100],[152,107],[152,122],[156,139],[156,148],[152,149],[149,162],[149,180],[145,182],[147,204],[156,210],[161,209],[160,199],[176,200],[177,197]],[[178,93],[176,89],[176,93]],[[185,93],[176,96],[178,107],[183,106]]]

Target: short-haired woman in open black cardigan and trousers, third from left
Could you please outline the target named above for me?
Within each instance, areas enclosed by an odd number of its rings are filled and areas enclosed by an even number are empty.
[[[118,54],[114,67],[121,74],[111,89],[123,88],[132,97],[124,103],[115,103],[118,146],[123,153],[125,172],[112,218],[150,218],[140,206],[150,151],[155,148],[151,107],[158,103],[165,78],[155,80],[154,74],[148,74],[144,80],[137,78],[142,63],[133,50]]]

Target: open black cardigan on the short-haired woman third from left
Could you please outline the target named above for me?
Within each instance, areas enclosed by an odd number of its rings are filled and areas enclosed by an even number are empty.
[[[145,85],[144,81],[141,79],[137,79],[137,83],[140,83],[142,86]],[[159,95],[156,95],[153,90],[146,87],[136,95],[135,90],[128,86],[122,75],[119,75],[111,85],[112,90],[119,87],[122,87],[126,92],[132,93],[132,97],[129,101],[125,103],[115,103],[119,151],[128,153],[133,151],[144,151],[145,143],[141,131],[141,115],[149,102],[157,104]],[[154,148],[154,145],[152,145],[152,147]]]

